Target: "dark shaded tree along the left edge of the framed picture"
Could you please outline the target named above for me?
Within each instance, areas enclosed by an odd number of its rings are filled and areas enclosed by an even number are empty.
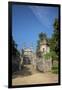
[[[20,52],[17,49],[17,44],[12,38],[12,73],[19,70]]]

